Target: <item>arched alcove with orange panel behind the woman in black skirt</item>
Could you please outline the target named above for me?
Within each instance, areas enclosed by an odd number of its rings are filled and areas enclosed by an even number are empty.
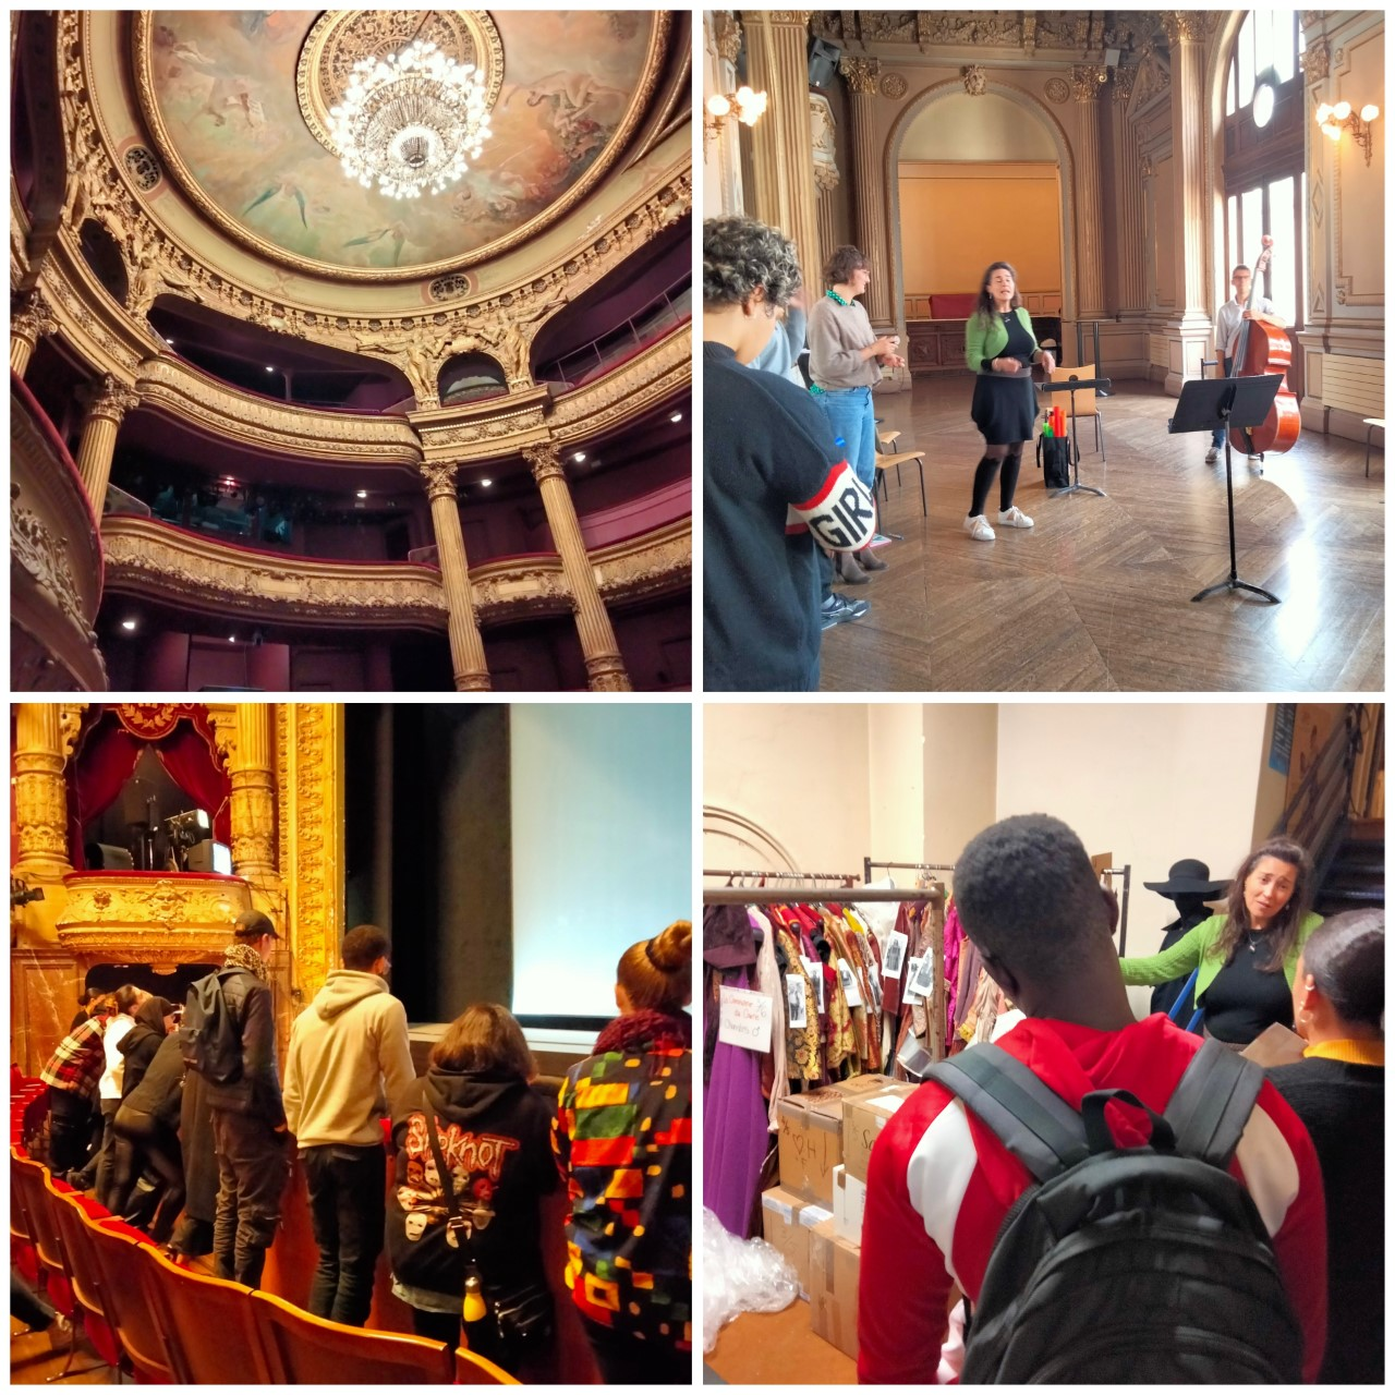
[[[925,340],[912,324],[960,325],[939,336],[939,349],[922,352],[921,367],[961,365],[965,314],[936,311],[958,311],[944,297],[976,294],[990,261],[1017,266],[1034,319],[1073,318],[1070,148],[1031,95],[999,82],[975,96],[960,81],[929,88],[893,127],[884,174],[894,314],[912,352]],[[942,361],[929,364],[925,353]]]

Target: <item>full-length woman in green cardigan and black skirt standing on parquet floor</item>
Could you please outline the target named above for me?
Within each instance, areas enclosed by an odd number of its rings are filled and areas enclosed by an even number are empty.
[[[999,467],[1003,470],[999,527],[1032,526],[1013,504],[1023,449],[1036,424],[1031,365],[1039,363],[1048,372],[1056,367],[1056,360],[1036,345],[1032,317],[1023,307],[1017,272],[1009,262],[993,262],[983,272],[978,304],[964,326],[964,359],[970,371],[978,374],[970,416],[983,432],[983,458],[974,472],[974,502],[964,519],[964,531],[981,543],[992,543],[995,534],[983,518],[983,506]]]

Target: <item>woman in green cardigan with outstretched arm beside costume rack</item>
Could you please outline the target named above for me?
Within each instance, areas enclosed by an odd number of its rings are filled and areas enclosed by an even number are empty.
[[[1290,838],[1269,838],[1240,864],[1223,915],[1176,944],[1119,961],[1126,983],[1166,983],[1197,970],[1197,1007],[1208,1036],[1239,1050],[1272,1023],[1293,1025],[1293,974],[1322,923],[1309,911],[1313,865]]]

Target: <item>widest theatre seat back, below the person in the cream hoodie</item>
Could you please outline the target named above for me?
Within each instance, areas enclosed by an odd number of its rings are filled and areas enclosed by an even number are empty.
[[[252,1293],[251,1307],[273,1384],[449,1385],[455,1378],[445,1342],[345,1327],[271,1293]]]

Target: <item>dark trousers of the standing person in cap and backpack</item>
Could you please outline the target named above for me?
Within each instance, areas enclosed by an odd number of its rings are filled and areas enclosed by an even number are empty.
[[[280,1223],[280,1197],[290,1175],[286,1134],[264,1119],[213,1110],[218,1152],[218,1215],[213,1264],[220,1279],[255,1289]]]

